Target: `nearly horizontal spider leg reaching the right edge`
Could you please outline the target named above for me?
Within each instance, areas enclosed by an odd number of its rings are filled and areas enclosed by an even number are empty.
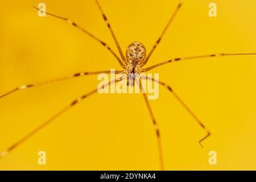
[[[172,63],[174,61],[180,60],[189,60],[189,59],[201,59],[205,57],[220,57],[220,56],[241,56],[241,55],[256,55],[256,53],[216,53],[212,55],[201,55],[201,56],[189,56],[189,57],[177,57],[168,61],[164,61],[163,63],[152,65],[151,67],[142,69],[142,72],[150,71],[150,69],[154,69],[156,67],[160,67],[161,65]]]

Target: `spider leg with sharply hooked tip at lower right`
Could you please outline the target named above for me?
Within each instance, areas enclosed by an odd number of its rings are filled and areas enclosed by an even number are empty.
[[[199,141],[200,146],[204,148],[201,142],[203,142],[205,139],[207,139],[210,136],[210,131],[204,126],[204,124],[200,121],[200,119],[196,117],[196,115],[192,112],[192,110],[189,109],[189,107],[181,100],[181,98],[176,94],[176,92],[174,92],[174,90],[171,88],[170,85],[167,85],[162,81],[155,80],[154,78],[151,78],[151,77],[146,77],[146,79],[158,82],[160,85],[163,85],[164,87],[166,87],[174,95],[174,97],[180,102],[180,104],[188,111],[188,113],[192,115],[192,117],[197,121],[197,123],[199,123],[199,125],[206,131],[207,135],[205,135],[205,137]]]

